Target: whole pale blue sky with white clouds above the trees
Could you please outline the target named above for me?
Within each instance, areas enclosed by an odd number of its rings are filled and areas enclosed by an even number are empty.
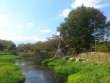
[[[46,41],[82,4],[100,9],[110,19],[110,0],[0,0],[0,39],[16,44]]]

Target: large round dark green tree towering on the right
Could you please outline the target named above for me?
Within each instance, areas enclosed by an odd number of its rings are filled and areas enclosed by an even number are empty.
[[[82,6],[72,10],[58,28],[62,48],[76,54],[90,50],[95,41],[104,38],[105,21],[106,17],[98,9]]]

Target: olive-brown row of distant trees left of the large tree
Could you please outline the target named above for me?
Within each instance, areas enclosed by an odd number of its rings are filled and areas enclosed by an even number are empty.
[[[35,56],[36,63],[53,57],[58,47],[58,37],[52,37],[45,42],[37,42],[35,44],[21,44],[17,46],[17,54],[20,56]]]

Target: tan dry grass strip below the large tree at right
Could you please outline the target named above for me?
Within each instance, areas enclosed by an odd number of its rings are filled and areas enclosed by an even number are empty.
[[[88,52],[79,54],[79,57],[96,63],[110,63],[110,53]]]

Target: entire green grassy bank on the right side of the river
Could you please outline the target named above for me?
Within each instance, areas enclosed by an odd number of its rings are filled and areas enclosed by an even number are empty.
[[[65,83],[110,83],[110,64],[96,64],[74,58],[54,58],[42,64],[65,76]]]

